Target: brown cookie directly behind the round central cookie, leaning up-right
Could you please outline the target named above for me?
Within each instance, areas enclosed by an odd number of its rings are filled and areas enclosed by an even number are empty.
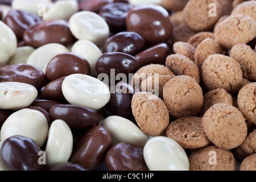
[[[188,57],[177,54],[167,56],[166,67],[171,69],[175,75],[191,76],[197,83],[201,81],[200,69]]]

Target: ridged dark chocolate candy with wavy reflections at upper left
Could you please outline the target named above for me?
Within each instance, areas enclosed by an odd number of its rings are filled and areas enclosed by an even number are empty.
[[[23,33],[29,26],[42,22],[38,15],[30,11],[14,9],[10,10],[4,21],[14,31],[18,40],[23,39]]]

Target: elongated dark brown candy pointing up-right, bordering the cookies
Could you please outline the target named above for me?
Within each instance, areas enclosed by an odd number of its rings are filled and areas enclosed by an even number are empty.
[[[170,55],[170,47],[166,43],[159,43],[138,53],[134,57],[141,67],[148,64],[166,64],[166,57]]]

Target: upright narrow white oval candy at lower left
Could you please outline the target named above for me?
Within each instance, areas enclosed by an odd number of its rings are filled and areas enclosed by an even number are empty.
[[[52,122],[46,143],[46,165],[51,167],[57,163],[68,162],[73,149],[71,129],[61,119]]]

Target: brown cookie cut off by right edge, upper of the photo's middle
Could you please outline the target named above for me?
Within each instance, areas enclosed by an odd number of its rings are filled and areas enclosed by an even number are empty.
[[[244,78],[256,81],[256,52],[250,46],[236,44],[230,50],[229,55],[241,65]]]

